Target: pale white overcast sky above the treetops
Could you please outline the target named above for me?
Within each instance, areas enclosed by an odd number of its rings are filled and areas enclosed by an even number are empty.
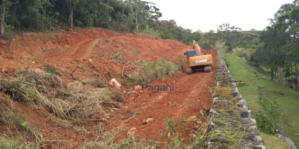
[[[145,0],[160,9],[160,20],[175,20],[178,26],[193,31],[217,30],[229,23],[242,30],[263,30],[281,4],[293,0]]]

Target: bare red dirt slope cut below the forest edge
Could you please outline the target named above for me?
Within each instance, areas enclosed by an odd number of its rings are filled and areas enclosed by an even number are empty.
[[[14,36],[9,42],[0,41],[0,47],[0,69],[4,72],[12,75],[20,68],[27,68],[36,49],[39,49],[31,68],[53,66],[61,70],[66,80],[78,63],[83,68],[75,74],[78,79],[90,77],[88,75],[95,76],[99,72],[108,73],[111,65],[115,68],[114,72],[110,72],[114,73],[111,75],[120,73],[122,67],[119,65],[123,64],[110,61],[110,57],[118,52],[130,61],[140,58],[176,60],[178,54],[182,54],[187,48],[179,41],[157,40],[147,35],[120,34],[100,28],[47,33],[26,32]],[[131,53],[135,53],[135,57],[132,57]]]

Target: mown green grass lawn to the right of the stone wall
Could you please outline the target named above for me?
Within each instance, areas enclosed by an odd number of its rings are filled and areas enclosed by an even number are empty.
[[[246,60],[241,60],[238,56],[225,54],[225,59],[234,79],[244,80],[248,83],[248,86],[239,87],[239,91],[253,115],[260,110],[257,87],[262,86],[266,88],[264,97],[279,103],[282,117],[277,119],[277,122],[295,145],[299,146],[299,138],[295,136],[295,134],[299,134],[299,92],[277,82],[270,81],[269,78],[271,76],[267,75],[267,73],[258,73],[254,66],[249,66]]]

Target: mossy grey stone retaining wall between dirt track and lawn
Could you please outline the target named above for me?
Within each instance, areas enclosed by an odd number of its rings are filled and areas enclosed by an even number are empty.
[[[216,83],[204,148],[265,149],[255,119],[226,65],[218,67]]]

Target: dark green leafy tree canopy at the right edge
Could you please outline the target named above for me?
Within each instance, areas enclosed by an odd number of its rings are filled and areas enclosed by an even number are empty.
[[[292,78],[293,87],[299,84],[299,5],[298,0],[284,4],[269,19],[271,25],[261,32],[261,46],[253,56],[259,66],[271,69],[272,79],[278,74],[281,83],[282,75]],[[295,71],[294,71],[295,69]],[[296,77],[293,77],[296,76]]]

